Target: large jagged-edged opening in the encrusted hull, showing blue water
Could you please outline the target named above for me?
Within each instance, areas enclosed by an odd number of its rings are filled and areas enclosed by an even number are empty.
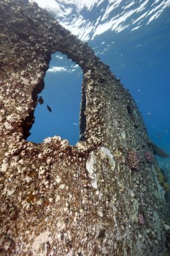
[[[44,77],[44,90],[38,94],[35,122],[28,141],[40,143],[54,135],[68,139],[73,146],[79,141],[82,76],[79,65],[66,55],[58,52],[52,55]]]

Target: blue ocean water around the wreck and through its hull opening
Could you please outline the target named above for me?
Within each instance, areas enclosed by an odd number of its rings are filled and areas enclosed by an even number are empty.
[[[107,9],[108,1],[101,2],[90,10],[81,10],[88,24],[93,24],[99,13]],[[73,11],[75,18],[77,12]],[[146,13],[148,11],[151,11],[151,5]],[[118,8],[110,11],[108,22],[116,15]],[[132,23],[135,18],[138,18],[136,13],[128,22]],[[149,24],[147,22],[148,19],[142,20],[137,29],[132,29],[132,26],[120,31],[108,29],[96,36],[90,30],[87,42],[132,94],[151,139],[170,154],[170,7],[163,9],[161,15]],[[87,34],[85,29],[84,34]],[[52,55],[45,76],[45,89],[40,94],[44,104],[36,107],[36,121],[28,140],[42,142],[45,137],[60,135],[62,139],[69,139],[71,145],[77,143],[81,82],[81,69],[75,63],[60,53]],[[52,108],[52,113],[46,104]],[[169,158],[160,161],[167,161],[170,169]]]

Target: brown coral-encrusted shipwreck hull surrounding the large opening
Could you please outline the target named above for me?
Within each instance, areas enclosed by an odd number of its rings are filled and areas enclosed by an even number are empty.
[[[166,255],[165,191],[120,80],[36,3],[0,0],[0,38],[0,254]],[[83,69],[75,147],[26,141],[55,51]]]

